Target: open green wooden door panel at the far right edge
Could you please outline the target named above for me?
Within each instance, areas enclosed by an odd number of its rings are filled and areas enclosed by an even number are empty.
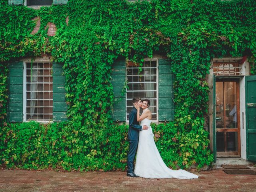
[[[247,160],[256,161],[256,76],[245,77],[245,92]]]

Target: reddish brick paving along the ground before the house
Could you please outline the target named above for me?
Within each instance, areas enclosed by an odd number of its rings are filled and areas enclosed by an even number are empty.
[[[126,172],[0,170],[0,192],[256,192],[256,175],[231,175],[221,169],[194,173],[198,179],[130,178]]]

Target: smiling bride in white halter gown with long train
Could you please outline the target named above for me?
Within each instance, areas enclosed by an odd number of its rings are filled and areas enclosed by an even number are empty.
[[[140,131],[136,164],[134,173],[144,178],[178,178],[178,179],[194,179],[198,178],[197,175],[187,172],[185,170],[171,170],[166,166],[162,160],[156,144],[154,142],[154,134],[150,126],[151,123],[151,112],[148,109],[150,106],[150,100],[142,100],[143,109],[140,115],[140,107],[134,104],[137,109],[137,121],[140,125],[147,125],[148,130]]]

